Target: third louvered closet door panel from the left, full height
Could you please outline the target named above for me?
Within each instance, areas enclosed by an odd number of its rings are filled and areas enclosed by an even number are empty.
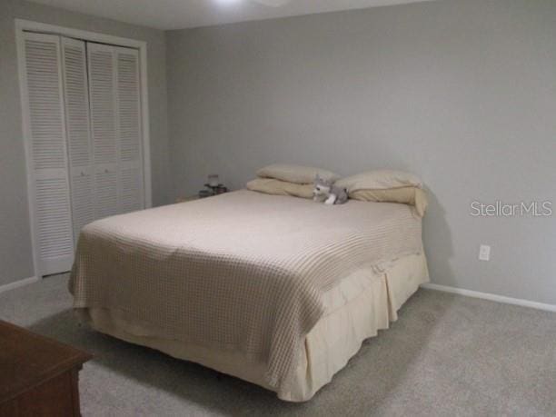
[[[93,144],[94,217],[118,214],[119,146],[114,46],[87,43]]]

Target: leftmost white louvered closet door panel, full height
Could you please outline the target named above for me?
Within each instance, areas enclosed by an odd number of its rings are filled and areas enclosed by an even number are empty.
[[[25,33],[28,168],[41,275],[71,268],[74,239],[67,172],[60,38]]]

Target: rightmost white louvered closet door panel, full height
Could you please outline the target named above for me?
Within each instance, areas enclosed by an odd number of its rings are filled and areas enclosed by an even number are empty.
[[[117,120],[119,137],[119,202],[122,213],[144,208],[139,53],[116,47]]]

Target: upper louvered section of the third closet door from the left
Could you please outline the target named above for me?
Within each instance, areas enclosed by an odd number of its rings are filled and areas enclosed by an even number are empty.
[[[87,43],[94,164],[118,161],[114,47]]]

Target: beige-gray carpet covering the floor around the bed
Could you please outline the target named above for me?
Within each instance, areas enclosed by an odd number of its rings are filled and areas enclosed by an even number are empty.
[[[67,276],[0,294],[0,319],[93,352],[85,416],[556,415],[556,313],[420,290],[311,402],[79,326]]]

